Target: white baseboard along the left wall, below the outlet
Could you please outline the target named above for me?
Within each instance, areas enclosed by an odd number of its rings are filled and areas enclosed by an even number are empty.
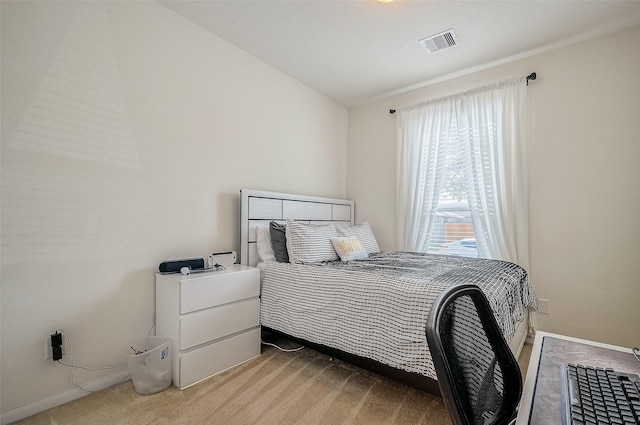
[[[105,388],[109,388],[112,385],[127,381],[129,379],[131,379],[131,377],[129,376],[129,372],[119,372],[112,375],[104,376],[102,378],[98,378],[86,384],[82,384],[82,386],[90,390],[91,392],[95,392],[103,390]],[[44,412],[45,410],[51,409],[53,407],[61,406],[65,403],[77,400],[89,394],[91,393],[74,387],[68,391],[56,394],[53,397],[48,397],[43,400],[29,403],[26,406],[2,412],[0,414],[0,424],[6,425],[24,418],[28,418],[29,416]]]

